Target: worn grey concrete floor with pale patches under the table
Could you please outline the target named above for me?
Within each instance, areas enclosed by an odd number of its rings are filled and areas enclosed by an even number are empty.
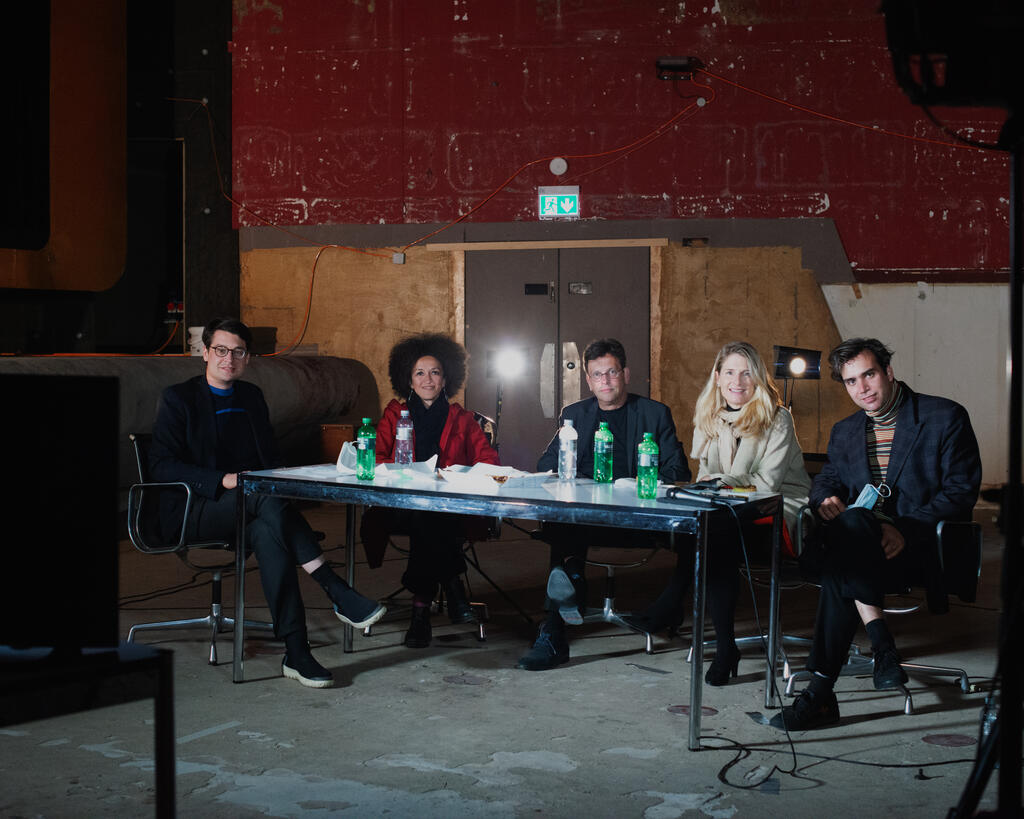
[[[705,688],[703,735],[711,749],[686,747],[686,644],[663,639],[653,655],[613,628],[577,630],[572,660],[555,671],[515,667],[532,630],[470,572],[472,597],[490,611],[488,639],[435,616],[434,644],[401,646],[406,615],[388,619],[355,651],[341,649],[342,629],[319,589],[306,578],[314,653],[337,685],[312,690],[280,674],[281,644],[247,640],[246,678],[231,683],[230,636],[221,664],[207,664],[198,632],[151,633],[143,640],[175,656],[177,806],[202,817],[646,817],[944,816],[971,770],[979,717],[995,664],[1001,540],[985,523],[985,566],[977,603],[953,601],[945,616],[896,618],[906,659],[957,665],[975,691],[947,682],[911,681],[916,713],[904,716],[898,693],[873,690],[869,678],[837,687],[842,724],[786,741],[763,725],[763,660],[744,652],[736,681]],[[313,508],[329,557],[344,536],[344,512]],[[539,616],[545,547],[505,527],[479,547],[484,567]],[[602,553],[606,554],[606,553]],[[398,585],[402,560],[357,566],[357,586],[383,597]],[[361,555],[360,555],[361,560]],[[671,566],[660,554],[624,573],[624,607],[651,599]],[[591,588],[600,586],[592,570]],[[265,617],[251,573],[249,613]],[[121,545],[121,623],[195,616],[208,587],[188,583],[171,557],[139,555]],[[202,581],[201,581],[202,583]],[[766,595],[759,593],[762,617]],[[230,584],[225,590],[230,599]],[[783,597],[786,631],[806,635],[816,592]],[[737,633],[752,633],[749,596]],[[866,647],[866,638],[859,635]],[[800,664],[803,656],[794,655]],[[939,744],[930,738],[942,738]],[[964,743],[964,744],[957,744]],[[794,770],[796,753],[796,770]],[[152,701],[87,712],[0,730],[0,816],[145,816],[155,807]],[[981,808],[993,808],[993,775]]]

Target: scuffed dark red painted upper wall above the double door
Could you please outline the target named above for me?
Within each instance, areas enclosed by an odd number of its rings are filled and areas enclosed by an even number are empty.
[[[469,218],[534,220],[538,185],[579,184],[584,218],[823,216],[857,271],[1005,269],[1009,160],[927,141],[949,140],[896,85],[878,7],[236,0],[233,195],[282,225],[447,222],[543,159]],[[684,54],[723,79],[656,78]],[[936,113],[989,141],[1005,119]]]

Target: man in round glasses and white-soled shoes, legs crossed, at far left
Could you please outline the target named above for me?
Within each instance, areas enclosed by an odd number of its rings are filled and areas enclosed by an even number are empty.
[[[203,330],[206,372],[164,390],[153,427],[150,470],[158,481],[184,481],[193,489],[187,536],[191,541],[233,540],[239,472],[280,466],[270,414],[263,392],[240,381],[249,361],[252,333],[234,318],[215,318]],[[329,688],[334,679],[309,650],[306,615],[296,565],[327,593],[342,622],[362,629],[385,608],[358,594],[332,570],[305,518],[287,501],[251,494],[245,499],[246,540],[259,561],[260,579],[285,641],[285,677],[310,688]],[[185,499],[161,499],[166,529],[180,526]]]

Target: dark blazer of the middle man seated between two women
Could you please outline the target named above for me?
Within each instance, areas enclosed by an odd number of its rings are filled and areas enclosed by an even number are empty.
[[[597,431],[597,398],[591,396],[570,403],[558,417],[561,427],[565,419],[572,421],[580,434],[577,444],[577,473],[585,477],[594,475],[594,433]],[[669,483],[690,479],[690,468],[683,455],[683,447],[676,437],[676,424],[672,411],[664,403],[629,393],[626,397],[626,471],[631,477],[637,474],[637,444],[643,434],[651,432],[658,447],[658,477]],[[558,469],[558,430],[537,462],[539,472]]]

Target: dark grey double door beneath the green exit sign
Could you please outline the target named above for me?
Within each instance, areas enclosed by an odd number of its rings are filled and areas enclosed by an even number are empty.
[[[609,336],[626,348],[629,391],[648,395],[647,247],[466,253],[466,405],[500,412],[503,464],[537,467],[561,408],[591,395],[587,344]]]

